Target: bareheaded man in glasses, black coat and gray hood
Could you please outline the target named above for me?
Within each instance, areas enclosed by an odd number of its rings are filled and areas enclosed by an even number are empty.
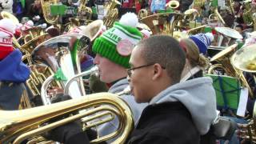
[[[180,82],[185,54],[169,36],[153,36],[135,46],[128,70],[136,102],[149,102],[127,143],[196,144],[216,118],[210,78]]]

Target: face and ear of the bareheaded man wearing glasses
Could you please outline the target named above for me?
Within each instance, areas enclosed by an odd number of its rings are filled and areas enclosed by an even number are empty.
[[[143,50],[144,48],[139,46],[134,48],[130,56],[130,70],[128,70],[130,71],[128,72],[130,88],[135,101],[138,103],[150,102],[162,90],[161,86],[170,81],[160,64],[148,63],[144,60]],[[163,82],[163,80],[166,82]]]

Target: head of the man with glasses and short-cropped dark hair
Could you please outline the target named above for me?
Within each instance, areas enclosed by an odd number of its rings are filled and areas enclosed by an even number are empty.
[[[174,38],[153,36],[134,47],[129,63],[127,78],[135,101],[150,102],[162,90],[180,81],[185,54]]]

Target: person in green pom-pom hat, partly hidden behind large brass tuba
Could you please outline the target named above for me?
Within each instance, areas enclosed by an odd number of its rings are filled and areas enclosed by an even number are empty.
[[[119,22],[115,22],[112,28],[106,30],[99,38],[95,39],[92,48],[96,54],[94,64],[98,66],[100,80],[109,84],[110,89],[108,92],[110,93],[118,94],[129,86],[126,79],[126,69],[130,68],[130,54],[134,45],[142,39],[141,32],[136,28],[137,23],[136,14],[124,14]],[[138,122],[138,118],[147,104],[138,104],[130,94],[123,94],[121,98],[130,106],[134,123]],[[99,136],[114,132],[118,129],[118,124],[118,118],[114,118],[113,121],[98,126]],[[86,139],[88,139],[87,135],[82,133],[82,128],[75,122],[58,127],[51,131],[49,135],[50,139],[64,143],[85,143]],[[88,136],[89,138],[92,137],[89,133]]]

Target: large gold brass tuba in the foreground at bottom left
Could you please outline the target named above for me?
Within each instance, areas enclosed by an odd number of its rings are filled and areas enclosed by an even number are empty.
[[[124,143],[130,131],[134,128],[134,122],[130,107],[116,94],[90,94],[86,97],[27,110],[0,110],[0,143],[13,142],[17,144],[24,140],[30,141],[31,138],[31,141],[38,143],[35,142],[39,139],[36,138],[38,135],[58,126],[63,126],[68,122],[85,118],[84,121],[89,123],[86,128],[90,128],[110,122],[115,116],[120,122],[118,129],[91,142],[106,141],[120,134],[113,143]],[[60,118],[63,119],[56,121]]]

